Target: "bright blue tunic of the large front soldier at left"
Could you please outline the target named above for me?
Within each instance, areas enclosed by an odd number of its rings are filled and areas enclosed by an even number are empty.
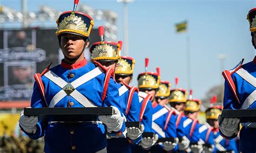
[[[96,66],[91,62],[83,64],[84,61],[78,62],[73,65],[82,65],[77,68],[65,67],[57,65],[50,69],[51,73],[55,73],[64,84],[72,84],[82,75],[92,71]],[[119,95],[116,83],[111,78],[109,81],[109,87],[107,88],[106,97],[102,100],[103,86],[105,73],[100,73],[96,77],[90,79],[82,85],[76,87],[76,92],[82,94],[82,96],[76,95],[56,95],[57,93],[63,93],[63,89],[57,85],[58,83],[50,80],[49,78],[42,76],[43,86],[45,88],[45,99],[39,91],[38,85],[35,84],[33,88],[33,94],[31,98],[32,108],[42,107],[110,107],[115,106],[119,110],[121,109],[119,104]],[[72,75],[70,75],[72,74]],[[71,77],[72,76],[72,77]],[[65,86],[65,85],[63,85]],[[75,85],[74,85],[75,86]],[[74,93],[75,93],[74,91]],[[80,100],[83,97],[87,99],[87,103]],[[54,99],[53,99],[54,98]],[[59,101],[56,101],[58,100]],[[96,152],[106,147],[105,129],[102,123],[95,122],[83,122],[83,123],[45,123],[38,122],[37,130],[35,134],[28,134],[24,132],[33,140],[44,136],[45,139],[45,152]],[[124,131],[125,124],[123,123],[122,129]]]

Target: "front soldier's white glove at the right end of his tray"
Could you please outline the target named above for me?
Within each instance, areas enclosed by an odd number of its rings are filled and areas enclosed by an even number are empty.
[[[99,115],[99,120],[102,121],[107,127],[107,131],[119,131],[124,122],[124,118],[121,116],[117,107],[111,106],[114,109],[114,115]]]

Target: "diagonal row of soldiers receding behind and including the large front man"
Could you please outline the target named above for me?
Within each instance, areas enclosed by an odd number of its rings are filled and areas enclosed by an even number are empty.
[[[183,88],[170,89],[160,79],[160,69],[138,75],[138,87],[129,86],[135,61],[120,56],[122,41],[101,41],[90,46],[91,62],[84,58],[93,19],[73,11],[57,19],[56,34],[64,54],[60,65],[35,74],[32,108],[112,107],[113,115],[100,122],[43,122],[24,116],[19,126],[31,139],[44,136],[45,152],[237,152],[234,140],[220,136],[221,106],[206,110],[207,123],[199,124],[200,100],[187,99]],[[134,124],[129,124],[129,123]],[[135,124],[139,123],[139,124]],[[130,126],[128,126],[130,125]]]

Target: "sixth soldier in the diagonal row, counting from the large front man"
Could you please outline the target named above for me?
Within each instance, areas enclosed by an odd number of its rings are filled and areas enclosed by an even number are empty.
[[[185,109],[185,102],[187,100],[187,91],[183,88],[177,88],[178,87],[179,79],[175,79],[175,88],[170,90],[170,96],[169,96],[169,103],[171,106],[171,109],[176,113],[177,119],[176,119],[176,128],[178,131],[184,131],[186,133],[186,129],[184,128],[184,121],[186,119],[186,116],[184,115],[184,109]],[[185,151],[190,144],[190,140],[186,135],[183,135],[181,133],[177,133],[179,136],[179,151]]]

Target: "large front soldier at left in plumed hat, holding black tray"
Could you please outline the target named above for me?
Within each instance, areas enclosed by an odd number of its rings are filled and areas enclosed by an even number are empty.
[[[100,121],[109,133],[122,133],[124,119],[113,78],[106,78],[104,67],[86,61],[84,48],[89,45],[93,19],[73,11],[57,19],[56,34],[64,54],[60,65],[35,74],[32,108],[42,107],[113,107],[114,115],[102,115]],[[36,116],[19,119],[21,129],[33,140],[44,136],[45,152],[106,152],[106,135],[99,122],[38,122]]]

